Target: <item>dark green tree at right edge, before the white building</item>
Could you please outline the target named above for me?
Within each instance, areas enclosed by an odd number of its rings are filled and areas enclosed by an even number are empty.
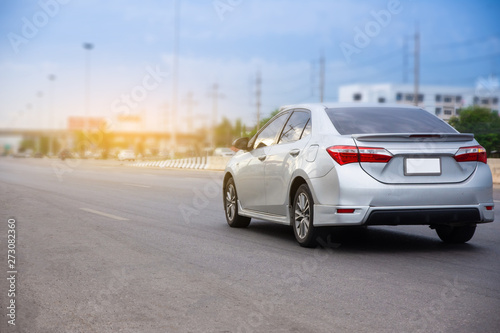
[[[474,133],[477,142],[488,152],[500,150],[500,117],[498,113],[477,105],[460,111],[449,124],[461,133]]]

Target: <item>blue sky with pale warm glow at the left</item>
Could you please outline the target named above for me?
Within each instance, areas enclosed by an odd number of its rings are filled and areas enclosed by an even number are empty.
[[[171,126],[173,0],[4,0],[0,7],[0,128],[64,127],[68,116],[85,114],[84,42],[95,45],[91,115],[112,117],[121,96],[137,92],[158,69],[167,74],[128,110],[142,114],[147,129]],[[389,7],[398,10],[347,61],[341,45],[356,46],[356,29],[373,28],[373,13],[391,13]],[[264,115],[283,104],[318,101],[321,52],[326,100],[337,99],[341,84],[400,83],[404,41],[412,52],[416,24],[422,84],[472,87],[500,71],[499,13],[498,1],[180,0],[178,128],[187,129],[188,92],[195,125],[209,121],[214,83],[219,117],[253,125],[257,70]],[[409,57],[410,82],[412,68]]]

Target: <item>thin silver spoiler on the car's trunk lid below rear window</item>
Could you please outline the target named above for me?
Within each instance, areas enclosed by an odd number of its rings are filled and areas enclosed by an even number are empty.
[[[440,141],[466,142],[474,140],[472,133],[383,133],[383,134],[353,134],[357,141],[408,142],[408,141]]]

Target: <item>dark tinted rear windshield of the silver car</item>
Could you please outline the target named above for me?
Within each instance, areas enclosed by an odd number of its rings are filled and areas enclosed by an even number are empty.
[[[453,127],[422,109],[359,107],[327,109],[342,134],[457,133]]]

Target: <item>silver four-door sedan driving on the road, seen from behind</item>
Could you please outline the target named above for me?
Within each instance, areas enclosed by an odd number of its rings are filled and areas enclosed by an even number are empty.
[[[464,243],[493,221],[485,149],[417,107],[287,106],[234,146],[223,181],[231,227],[291,225],[314,247],[323,227],[429,225]]]

